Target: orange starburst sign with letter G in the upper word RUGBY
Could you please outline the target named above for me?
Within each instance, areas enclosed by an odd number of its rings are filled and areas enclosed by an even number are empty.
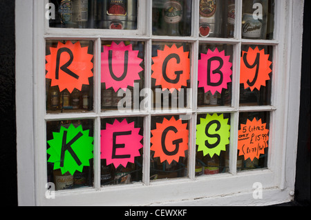
[[[177,48],[175,44],[164,50],[158,50],[158,57],[153,57],[151,77],[156,79],[156,86],[162,86],[162,90],[170,92],[187,86],[190,79],[189,52],[184,52],[183,47]]]

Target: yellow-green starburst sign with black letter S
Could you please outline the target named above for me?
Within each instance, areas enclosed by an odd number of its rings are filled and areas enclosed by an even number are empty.
[[[202,151],[203,155],[214,154],[220,156],[220,151],[226,150],[229,144],[230,126],[229,119],[224,119],[223,114],[207,114],[205,118],[200,119],[200,124],[196,126],[196,144],[198,151]]]

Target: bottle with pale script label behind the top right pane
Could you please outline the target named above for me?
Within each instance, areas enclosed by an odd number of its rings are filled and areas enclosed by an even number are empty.
[[[244,0],[242,37],[265,39],[267,31],[267,0]]]

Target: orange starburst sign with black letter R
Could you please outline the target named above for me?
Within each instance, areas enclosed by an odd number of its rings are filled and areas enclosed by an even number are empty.
[[[92,59],[88,47],[82,48],[79,41],[58,42],[57,48],[51,47],[46,55],[46,78],[52,79],[50,86],[58,86],[60,92],[82,90],[82,84],[88,85],[88,78],[93,77]]]

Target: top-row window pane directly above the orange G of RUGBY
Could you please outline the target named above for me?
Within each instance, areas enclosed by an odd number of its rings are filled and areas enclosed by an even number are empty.
[[[190,36],[191,0],[153,0],[152,33],[154,35]]]

